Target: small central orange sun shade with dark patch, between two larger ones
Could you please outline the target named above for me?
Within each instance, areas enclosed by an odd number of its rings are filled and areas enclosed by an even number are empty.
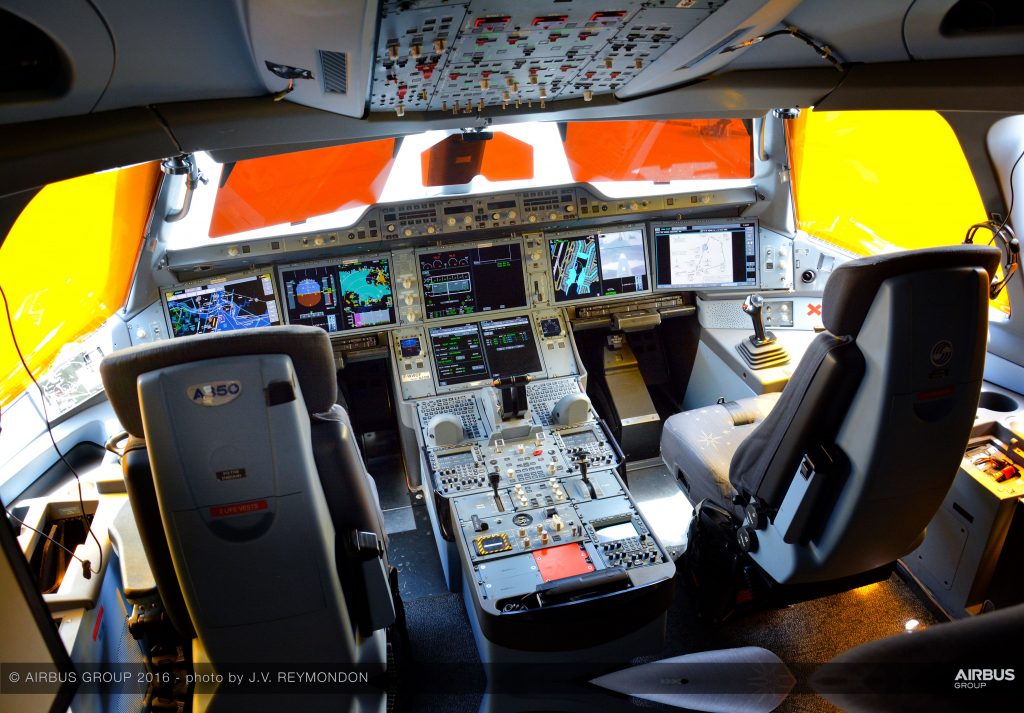
[[[487,180],[529,180],[534,177],[534,146],[506,133],[486,140],[466,140],[452,134],[420,155],[424,185],[464,185],[475,176]]]

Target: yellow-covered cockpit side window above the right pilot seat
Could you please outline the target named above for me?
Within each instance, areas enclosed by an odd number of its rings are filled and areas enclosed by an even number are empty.
[[[797,227],[851,253],[955,245],[988,219],[937,112],[805,110],[786,133]],[[1009,314],[1007,293],[991,306]]]

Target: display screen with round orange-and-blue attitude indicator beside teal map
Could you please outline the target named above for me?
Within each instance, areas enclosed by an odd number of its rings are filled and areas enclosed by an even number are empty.
[[[388,258],[281,268],[288,323],[346,332],[392,325]]]

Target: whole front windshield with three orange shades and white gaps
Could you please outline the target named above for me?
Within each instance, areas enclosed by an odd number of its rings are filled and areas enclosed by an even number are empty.
[[[211,238],[343,227],[374,203],[588,182],[609,198],[750,185],[751,122],[529,122],[486,131],[427,131],[219,164],[197,161],[201,185],[172,249]]]

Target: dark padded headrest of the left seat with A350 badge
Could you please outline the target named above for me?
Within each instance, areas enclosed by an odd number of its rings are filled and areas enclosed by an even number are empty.
[[[291,358],[309,413],[322,413],[334,406],[338,396],[334,351],[327,332],[316,327],[262,327],[140,344],[104,356],[99,374],[121,425],[141,438],[144,434],[138,404],[139,375],[179,364],[256,354]]]

